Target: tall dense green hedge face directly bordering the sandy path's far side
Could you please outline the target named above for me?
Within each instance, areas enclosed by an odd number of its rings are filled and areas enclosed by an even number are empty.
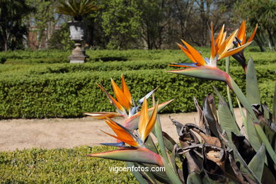
[[[275,84],[276,64],[258,66],[260,91],[270,91]],[[156,98],[160,102],[176,98],[163,113],[190,112],[195,110],[192,97],[202,100],[216,86],[225,95],[225,84],[177,74],[168,74],[162,69],[133,71],[81,71],[65,74],[1,74],[0,118],[81,117],[84,112],[111,111],[108,98],[95,85],[101,83],[111,90],[110,78],[120,84],[120,75],[125,75],[134,99],[159,86]],[[245,89],[245,75],[241,67],[232,67],[231,74],[239,86]],[[4,77],[3,77],[4,76]],[[271,106],[272,94],[263,101]]]

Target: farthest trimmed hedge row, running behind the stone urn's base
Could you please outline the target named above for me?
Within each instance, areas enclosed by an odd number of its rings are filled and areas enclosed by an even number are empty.
[[[204,57],[209,57],[209,48],[197,48]],[[251,50],[249,48],[248,50]],[[0,58],[6,64],[44,64],[44,63],[68,63],[69,51],[62,52],[57,50],[46,51],[14,51],[0,52]],[[138,62],[144,61],[151,63],[159,60],[163,64],[171,62],[188,61],[185,54],[180,50],[86,50],[90,57],[88,62]],[[276,61],[275,52],[245,52],[246,58],[253,57],[256,64],[268,64]],[[224,62],[218,62],[221,64]],[[235,66],[238,62],[232,62]]]

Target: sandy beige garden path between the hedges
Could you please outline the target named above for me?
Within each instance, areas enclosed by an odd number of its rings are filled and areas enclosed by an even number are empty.
[[[241,115],[235,109],[238,124]],[[163,131],[178,140],[176,128],[168,115],[179,122],[188,123],[198,120],[197,113],[177,113],[160,115]],[[117,122],[122,120],[117,119]],[[0,151],[13,151],[30,148],[73,148],[74,146],[93,146],[100,142],[114,142],[113,137],[105,135],[113,132],[103,120],[91,117],[72,119],[32,119],[0,120]]]

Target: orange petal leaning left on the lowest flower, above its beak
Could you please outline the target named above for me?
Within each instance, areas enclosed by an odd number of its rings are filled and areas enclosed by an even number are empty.
[[[116,124],[116,122],[114,122],[111,119],[107,119],[105,120],[105,122],[108,124],[108,126],[115,132],[115,134],[117,134],[117,137],[115,137],[116,139],[120,139],[122,142],[125,142],[127,144],[129,144],[130,146],[137,146],[138,143],[134,140],[134,138],[132,137],[132,135],[127,132],[126,130],[122,129],[122,127],[120,127],[119,125]]]

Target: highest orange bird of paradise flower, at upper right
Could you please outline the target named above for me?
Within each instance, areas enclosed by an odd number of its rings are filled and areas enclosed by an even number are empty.
[[[256,27],[257,28],[257,27]],[[255,30],[256,30],[255,28]],[[184,40],[183,45],[178,44],[178,47],[189,57],[193,63],[175,63],[171,64],[173,67],[185,67],[188,69],[178,69],[168,71],[175,74],[183,74],[186,76],[195,76],[197,78],[212,79],[217,81],[224,81],[231,87],[231,77],[225,71],[222,71],[217,67],[217,61],[224,57],[229,57],[231,55],[237,54],[244,50],[248,45],[253,42],[253,37],[255,35],[255,30],[251,35],[251,38],[246,42],[245,38],[245,23],[241,25],[240,29],[234,30],[228,38],[226,38],[226,32],[224,32],[224,25],[222,26],[217,38],[214,39],[214,30],[211,23],[210,28],[210,38],[211,38],[211,56],[203,58],[200,52],[195,50]],[[236,40],[241,40],[238,44]],[[234,47],[236,45],[236,47]]]

